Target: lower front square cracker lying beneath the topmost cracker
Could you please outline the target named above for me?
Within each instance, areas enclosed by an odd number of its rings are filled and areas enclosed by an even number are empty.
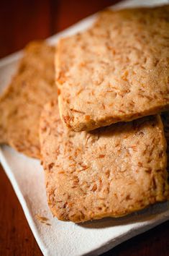
[[[42,112],[40,145],[48,204],[62,221],[124,216],[168,198],[160,116],[71,132],[51,103]]]

